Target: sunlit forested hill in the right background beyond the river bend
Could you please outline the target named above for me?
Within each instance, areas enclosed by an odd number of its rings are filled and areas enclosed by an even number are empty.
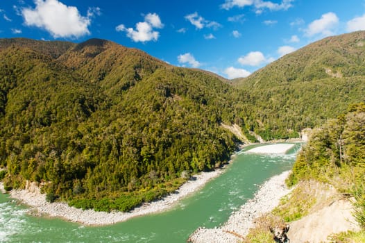
[[[264,138],[321,126],[365,99],[365,31],[326,37],[233,81]]]

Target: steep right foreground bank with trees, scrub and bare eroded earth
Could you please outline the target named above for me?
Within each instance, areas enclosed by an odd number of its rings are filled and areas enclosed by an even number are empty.
[[[314,128],[287,178],[287,184],[295,187],[273,211],[256,220],[255,228],[251,228],[244,242],[278,242],[273,234],[277,237],[280,231],[274,228],[285,229],[281,239],[286,235],[291,242],[321,241],[323,237],[313,237],[319,234],[327,238],[321,242],[365,242],[364,165],[365,103],[355,103],[337,118]],[[332,208],[339,202],[339,208]],[[354,209],[359,230],[352,227],[345,230],[345,225],[353,221],[344,217],[350,209]],[[343,219],[334,215],[343,215]],[[336,224],[345,228],[339,229]]]

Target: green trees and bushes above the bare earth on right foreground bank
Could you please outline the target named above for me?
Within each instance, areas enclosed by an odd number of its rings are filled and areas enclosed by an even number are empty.
[[[365,103],[316,128],[300,151],[289,185],[314,179],[355,198],[355,217],[365,229]]]

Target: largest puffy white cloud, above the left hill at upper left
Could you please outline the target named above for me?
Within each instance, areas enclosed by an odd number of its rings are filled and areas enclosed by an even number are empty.
[[[34,9],[21,10],[26,26],[44,28],[55,38],[90,34],[91,16],[81,16],[76,7],[66,6],[58,0],[34,0],[34,3]]]

